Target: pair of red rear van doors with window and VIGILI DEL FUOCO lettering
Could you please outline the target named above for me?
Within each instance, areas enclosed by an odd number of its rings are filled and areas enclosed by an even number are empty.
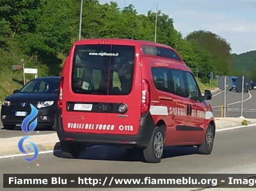
[[[63,90],[65,131],[137,134],[141,73],[135,52],[134,45],[76,45],[68,88],[64,86],[69,91]]]

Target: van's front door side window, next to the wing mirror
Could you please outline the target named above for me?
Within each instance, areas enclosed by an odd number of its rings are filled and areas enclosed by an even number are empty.
[[[189,93],[189,98],[191,100],[195,100],[197,102],[201,101],[201,93],[200,89],[196,84],[196,80],[193,77],[193,74],[190,72],[186,72],[187,79],[188,79],[188,93]]]

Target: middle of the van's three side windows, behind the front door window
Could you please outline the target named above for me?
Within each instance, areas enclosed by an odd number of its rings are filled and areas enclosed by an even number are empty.
[[[186,83],[182,70],[170,69],[173,80],[173,94],[186,98]]]

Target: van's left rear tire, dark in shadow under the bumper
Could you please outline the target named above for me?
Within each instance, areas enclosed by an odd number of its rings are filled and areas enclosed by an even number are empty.
[[[74,142],[61,141],[60,148],[63,157],[65,158],[78,158],[81,154],[81,149],[79,148],[79,145]]]

